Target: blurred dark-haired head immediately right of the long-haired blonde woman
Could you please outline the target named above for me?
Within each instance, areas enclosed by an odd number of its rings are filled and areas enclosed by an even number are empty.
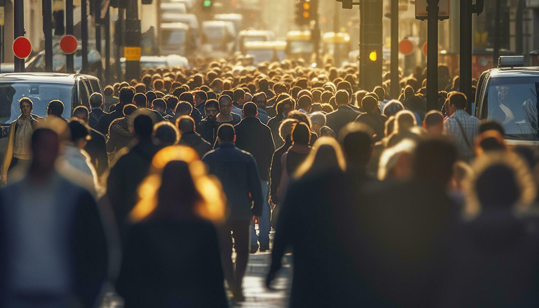
[[[365,124],[350,123],[339,133],[347,168],[366,169],[372,158],[372,129]]]

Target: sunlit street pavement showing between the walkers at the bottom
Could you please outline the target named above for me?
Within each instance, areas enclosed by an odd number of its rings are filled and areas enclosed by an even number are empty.
[[[273,236],[274,231],[269,235],[271,248],[273,248]],[[230,300],[230,307],[273,308],[288,306],[292,283],[292,254],[285,255],[282,269],[273,283],[273,290],[268,290],[265,286],[269,265],[271,265],[271,250],[266,252],[257,251],[255,254],[249,255],[243,280],[245,302],[235,303]],[[108,293],[99,307],[123,308],[123,300],[113,293]]]

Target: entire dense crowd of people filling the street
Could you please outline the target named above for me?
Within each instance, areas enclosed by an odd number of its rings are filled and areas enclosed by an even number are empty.
[[[144,69],[71,119],[20,99],[2,306],[114,289],[128,308],[226,307],[258,251],[268,288],[292,252],[292,307],[537,306],[538,156],[441,78],[431,111],[420,69],[390,97],[385,77],[362,89],[354,67],[292,60]]]

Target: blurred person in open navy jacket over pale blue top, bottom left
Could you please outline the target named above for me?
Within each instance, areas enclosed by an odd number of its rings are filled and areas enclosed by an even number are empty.
[[[32,134],[32,163],[0,190],[0,306],[94,307],[107,274],[107,242],[91,194],[54,170],[59,137]]]

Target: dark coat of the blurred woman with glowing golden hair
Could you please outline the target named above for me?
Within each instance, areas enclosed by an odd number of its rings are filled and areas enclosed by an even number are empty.
[[[215,227],[151,217],[134,224],[116,290],[126,307],[228,307]]]

